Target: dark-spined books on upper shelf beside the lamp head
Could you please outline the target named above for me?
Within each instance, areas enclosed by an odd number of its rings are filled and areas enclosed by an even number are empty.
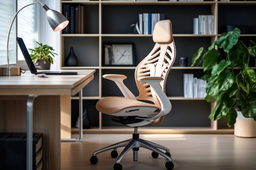
[[[81,4],[64,4],[63,15],[69,20],[69,25],[62,34],[85,34],[85,8]]]

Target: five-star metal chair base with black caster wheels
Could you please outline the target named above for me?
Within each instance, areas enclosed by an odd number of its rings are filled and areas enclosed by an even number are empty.
[[[92,164],[97,164],[98,158],[97,154],[102,153],[104,151],[108,151],[113,149],[111,152],[111,157],[116,158],[118,156],[117,148],[125,147],[124,150],[121,152],[117,160],[115,161],[114,170],[122,170],[122,165],[120,164],[121,159],[125,156],[125,154],[132,149],[133,151],[133,161],[138,161],[138,151],[139,148],[146,148],[148,150],[152,151],[152,157],[157,158],[160,154],[161,156],[165,157],[167,159],[167,162],[165,163],[165,167],[167,170],[172,170],[174,168],[174,164],[172,163],[172,158],[170,154],[170,150],[168,148],[165,148],[164,146],[155,144],[153,142],[149,142],[143,139],[140,139],[140,134],[138,133],[138,127],[134,128],[134,133],[132,134],[132,139],[128,139],[122,142],[118,142],[116,144],[107,146],[105,148],[102,148],[98,151],[95,151],[92,154],[92,157],[90,158],[90,162]],[[159,149],[162,149],[166,151],[165,153]]]

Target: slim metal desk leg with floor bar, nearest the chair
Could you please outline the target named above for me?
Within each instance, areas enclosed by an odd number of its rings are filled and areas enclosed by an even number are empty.
[[[83,138],[83,119],[82,119],[82,89],[79,91],[79,139],[61,139],[61,142],[78,142]]]

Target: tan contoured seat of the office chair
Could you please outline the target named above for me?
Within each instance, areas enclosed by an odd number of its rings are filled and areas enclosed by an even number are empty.
[[[159,107],[130,98],[108,97],[99,100],[96,109],[99,112],[114,116],[141,116],[150,115]]]

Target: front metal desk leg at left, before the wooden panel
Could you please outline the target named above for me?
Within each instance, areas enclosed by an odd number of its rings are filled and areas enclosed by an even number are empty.
[[[33,103],[36,96],[29,95],[26,102],[26,170],[33,170]]]

